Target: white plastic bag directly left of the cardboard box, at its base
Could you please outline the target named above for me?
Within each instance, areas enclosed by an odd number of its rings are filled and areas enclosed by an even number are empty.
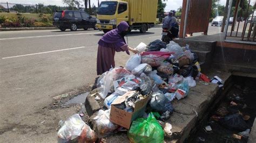
[[[99,110],[98,115],[93,118],[96,120],[98,137],[102,138],[107,134],[112,133],[118,128],[118,125],[113,124],[110,119],[110,109],[109,110]]]

